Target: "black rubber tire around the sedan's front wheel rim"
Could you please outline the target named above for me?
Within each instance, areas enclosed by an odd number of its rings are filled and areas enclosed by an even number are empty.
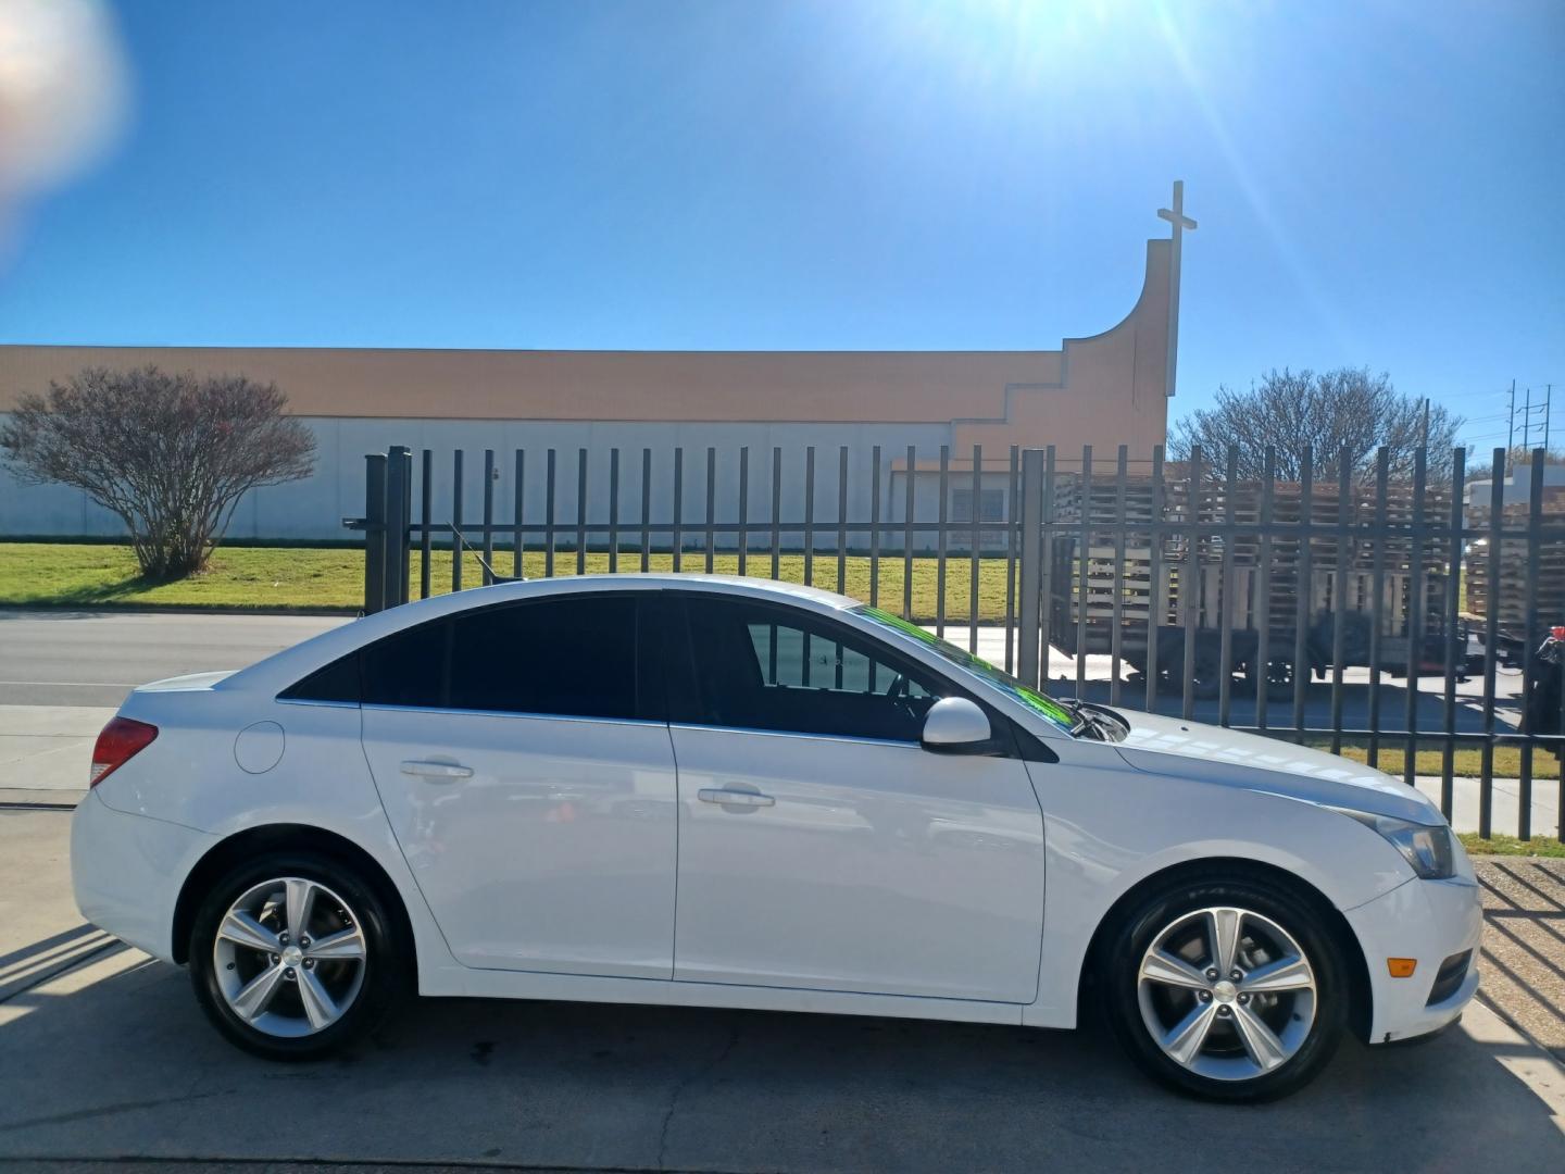
[[[1297,1010],[1301,1003],[1277,999],[1275,1007],[1269,1011],[1269,1014],[1280,1014],[1283,1019],[1283,1025],[1275,1028],[1279,1033],[1286,1035],[1288,1030],[1294,1030],[1301,1036],[1296,1050],[1271,1071],[1243,1079],[1219,1079],[1175,1061],[1153,1039],[1152,1028],[1142,1014],[1139,977],[1141,963],[1149,947],[1180,919],[1214,906],[1258,914],[1261,920],[1246,922],[1246,925],[1254,924],[1257,933],[1261,935],[1265,935],[1265,920],[1268,919],[1280,927],[1304,953],[1315,981],[1313,1021],[1308,1022],[1307,1028],[1286,1024],[1288,1019],[1293,1019],[1294,1024],[1305,1022],[1305,1016]],[[1246,936],[1244,941],[1250,941],[1250,938]],[[1110,930],[1097,961],[1096,980],[1103,1013],[1130,1058],[1158,1083],[1207,1100],[1263,1102],[1297,1091],[1313,1080],[1332,1058],[1347,1024],[1344,964],[1322,914],[1313,902],[1286,884],[1258,877],[1185,880],[1150,892]],[[1232,991],[1229,996],[1232,997]],[[1194,996],[1189,997],[1194,1000]],[[1285,996],[1285,999],[1291,999],[1291,996]],[[1194,1008],[1194,1002],[1191,1005]],[[1261,1003],[1255,1002],[1250,1007],[1260,1010]],[[1224,1010],[1222,1013],[1230,1019],[1213,1021],[1211,1035],[1207,1036],[1207,1047],[1214,1052],[1210,1058],[1211,1068],[1230,1064],[1224,1057],[1224,1049],[1229,1053],[1236,1052],[1232,1066],[1243,1068],[1243,1063],[1247,1063],[1238,1060],[1247,1052],[1241,1047],[1238,1025],[1232,1021],[1236,1011],[1236,1007]],[[1224,1024],[1224,1027],[1218,1028],[1216,1024]],[[1208,1063],[1205,1052],[1199,1061]]]

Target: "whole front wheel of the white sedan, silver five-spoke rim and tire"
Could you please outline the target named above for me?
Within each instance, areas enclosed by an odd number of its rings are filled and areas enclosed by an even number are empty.
[[[1321,916],[1260,880],[1150,895],[1121,922],[1102,966],[1110,1019],[1131,1058],[1213,1100],[1272,1100],[1304,1086],[1347,1019]]]

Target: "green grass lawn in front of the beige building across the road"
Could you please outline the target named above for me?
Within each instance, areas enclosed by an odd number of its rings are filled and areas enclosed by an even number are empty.
[[[451,551],[437,549],[432,554],[430,592],[441,595],[451,590]],[[681,570],[701,571],[704,554],[685,554]],[[734,574],[739,571],[739,556],[718,554],[715,571]],[[512,573],[510,551],[495,553],[495,570]],[[607,554],[588,554],[587,571],[609,570]],[[640,570],[640,554],[621,554],[620,570]],[[651,570],[673,570],[673,556],[654,554]],[[357,609],[365,598],[365,557],[355,548],[313,546],[224,546],[211,557],[203,574],[180,582],[149,584],[136,573],[136,559],[130,546],[94,543],[0,543],[0,606],[53,604],[91,607],[121,604],[138,607],[341,607]],[[541,551],[527,551],[523,573],[541,578],[545,557]],[[556,574],[576,573],[574,553],[556,553]],[[768,554],[753,554],[750,574],[770,576]],[[945,618],[950,623],[966,623],[969,617],[972,564],[966,559],[948,559],[945,564]],[[418,596],[419,556],[412,557],[410,576],[413,595]],[[804,556],[784,554],[779,559],[778,578],[786,582],[804,582]],[[837,584],[836,556],[815,556],[811,581],[817,587],[842,590],[859,600],[870,598],[870,560],[867,556],[847,559],[847,582]],[[462,581],[474,587],[484,581],[477,556],[463,557]],[[914,559],[912,614],[922,621],[934,620],[939,570],[936,559]],[[889,610],[901,610],[903,560],[883,557],[880,564],[880,603]],[[978,574],[978,618],[997,621],[1005,617],[1005,559],[981,559]]]

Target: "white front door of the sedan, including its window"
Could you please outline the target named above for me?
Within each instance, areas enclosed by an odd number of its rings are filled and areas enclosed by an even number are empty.
[[[818,612],[734,595],[684,612],[675,978],[1031,1002],[1027,769],[919,745],[928,708],[964,690]]]

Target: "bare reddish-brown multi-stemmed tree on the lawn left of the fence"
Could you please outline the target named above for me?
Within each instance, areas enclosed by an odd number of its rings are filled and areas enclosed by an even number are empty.
[[[22,396],[0,449],[22,481],[74,485],[117,513],[141,573],[166,582],[207,564],[247,490],[310,476],[315,437],[286,402],[243,376],[89,368]]]

